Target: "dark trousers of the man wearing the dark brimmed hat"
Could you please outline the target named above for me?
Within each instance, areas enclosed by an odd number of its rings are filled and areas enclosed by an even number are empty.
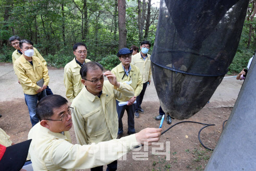
[[[118,106],[118,102],[119,101],[116,100],[116,111],[118,114],[118,134],[124,133],[122,118],[124,116],[125,110],[127,111],[127,116],[128,116],[128,132],[130,134],[135,133],[134,112],[135,112],[136,104],[132,104],[130,106],[127,106],[127,105]]]

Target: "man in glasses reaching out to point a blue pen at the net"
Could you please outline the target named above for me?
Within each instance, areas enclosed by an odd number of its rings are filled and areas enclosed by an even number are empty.
[[[75,101],[75,100],[74,100]],[[30,131],[29,154],[34,170],[86,169],[111,163],[140,143],[157,142],[162,129],[146,128],[139,133],[90,145],[71,144],[72,108],[59,95],[44,97],[36,106],[40,123]],[[99,125],[100,126],[100,125]]]

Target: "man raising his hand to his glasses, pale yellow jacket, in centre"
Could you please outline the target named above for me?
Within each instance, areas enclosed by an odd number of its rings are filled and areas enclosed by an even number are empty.
[[[72,118],[77,143],[89,144],[116,139],[118,115],[116,99],[127,101],[134,96],[134,90],[126,83],[119,83],[116,76],[106,71],[100,63],[87,62],[80,70],[83,89],[73,100]],[[108,81],[104,81],[105,75]],[[107,165],[109,170],[116,170],[117,161]],[[103,166],[91,170],[102,170]]]

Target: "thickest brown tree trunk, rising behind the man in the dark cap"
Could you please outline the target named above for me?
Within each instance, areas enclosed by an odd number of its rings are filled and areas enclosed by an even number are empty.
[[[125,0],[118,0],[118,30],[119,30],[119,41],[118,49],[126,47],[126,2]]]

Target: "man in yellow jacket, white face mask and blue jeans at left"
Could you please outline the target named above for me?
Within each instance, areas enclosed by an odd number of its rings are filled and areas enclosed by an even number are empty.
[[[50,79],[47,67],[38,57],[33,56],[33,43],[29,40],[21,40],[19,46],[22,55],[15,61],[14,70],[22,86],[30,121],[34,126],[39,122],[35,115],[36,104],[46,96],[45,89]]]

